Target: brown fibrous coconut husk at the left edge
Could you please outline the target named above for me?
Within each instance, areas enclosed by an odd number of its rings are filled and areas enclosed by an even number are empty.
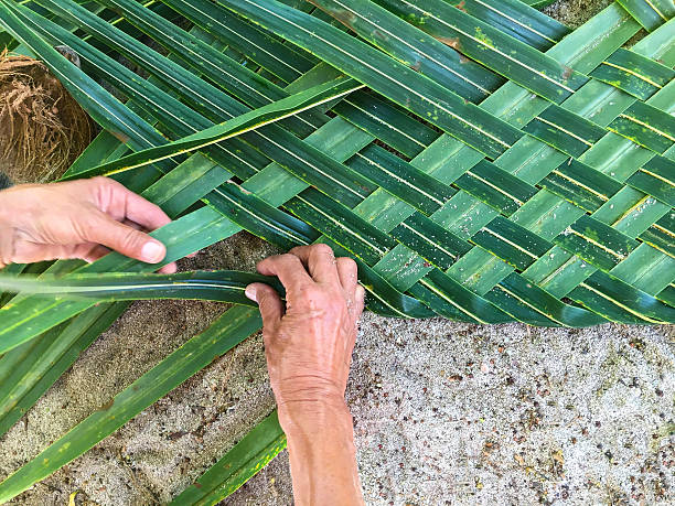
[[[54,181],[92,134],[87,114],[44,64],[0,53],[0,172],[14,183]]]

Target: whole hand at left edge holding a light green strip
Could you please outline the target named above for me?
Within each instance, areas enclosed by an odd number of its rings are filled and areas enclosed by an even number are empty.
[[[110,249],[159,263],[167,248],[146,232],[170,222],[159,206],[107,177],[14,186],[0,192],[0,267],[94,261]],[[175,265],[161,272],[175,272]]]

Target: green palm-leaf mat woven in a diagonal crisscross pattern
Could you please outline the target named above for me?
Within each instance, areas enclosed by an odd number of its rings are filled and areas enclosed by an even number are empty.
[[[392,316],[675,322],[672,0],[621,0],[574,32],[517,0],[97,1],[169,57],[71,0],[36,3],[53,21],[12,9],[129,98],[142,128],[81,101],[133,150],[164,142],[156,123],[178,139],[340,74],[366,85],[167,162],[203,176],[210,240],[326,243]]]

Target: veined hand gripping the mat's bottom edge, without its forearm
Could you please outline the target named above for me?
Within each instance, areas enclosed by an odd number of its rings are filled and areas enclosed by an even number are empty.
[[[280,417],[299,408],[321,415],[344,407],[356,324],[365,291],[356,263],[333,256],[326,245],[301,246],[258,263],[286,288],[286,311],[277,292],[254,283],[247,295],[260,306],[271,386]]]

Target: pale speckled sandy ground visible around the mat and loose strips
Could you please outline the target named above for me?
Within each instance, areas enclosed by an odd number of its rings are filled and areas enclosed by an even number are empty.
[[[578,25],[607,4],[561,1]],[[182,268],[253,269],[240,234]],[[0,440],[0,477],[205,329],[223,305],[139,302]],[[481,326],[364,317],[347,392],[366,502],[672,504],[675,330]],[[179,494],[274,409],[246,341],[12,504],[151,505]],[[292,503],[282,453],[228,505]]]

